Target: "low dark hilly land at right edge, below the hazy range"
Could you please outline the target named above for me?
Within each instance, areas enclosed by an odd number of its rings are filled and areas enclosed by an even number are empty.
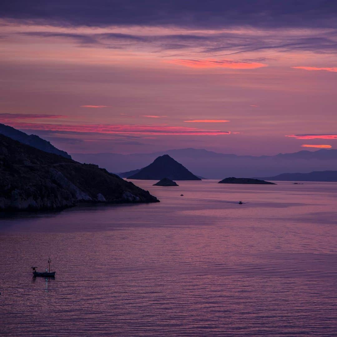
[[[337,181],[337,171],[314,171],[310,173],[282,173],[274,177],[259,178],[280,181]]]

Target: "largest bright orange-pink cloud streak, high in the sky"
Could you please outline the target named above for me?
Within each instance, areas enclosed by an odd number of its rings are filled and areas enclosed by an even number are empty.
[[[169,63],[183,65],[192,68],[228,68],[228,69],[256,69],[261,67],[267,67],[267,64],[257,62],[239,62],[231,60],[186,60],[177,59],[168,61]]]

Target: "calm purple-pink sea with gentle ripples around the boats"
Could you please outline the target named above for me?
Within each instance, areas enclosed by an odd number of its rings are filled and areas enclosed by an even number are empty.
[[[2,217],[0,334],[337,335],[337,183],[178,183]],[[33,280],[49,256],[55,279]]]

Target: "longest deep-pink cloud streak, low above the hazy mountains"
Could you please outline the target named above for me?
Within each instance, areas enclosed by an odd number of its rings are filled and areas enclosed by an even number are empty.
[[[11,126],[21,129],[68,131],[85,133],[108,133],[108,134],[139,134],[139,135],[222,135],[231,134],[231,131],[205,130],[192,127],[166,126],[166,125],[112,125],[112,124],[87,124],[87,125],[64,125],[64,124],[35,124],[12,122]]]

